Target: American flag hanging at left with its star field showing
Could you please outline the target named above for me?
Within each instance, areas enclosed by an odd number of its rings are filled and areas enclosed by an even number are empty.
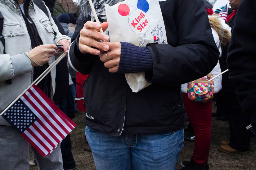
[[[49,155],[76,126],[35,85],[30,87],[2,117],[43,157]]]

